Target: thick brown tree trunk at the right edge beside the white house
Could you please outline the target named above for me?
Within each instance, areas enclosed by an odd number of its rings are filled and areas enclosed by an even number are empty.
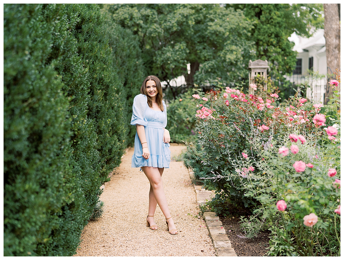
[[[336,69],[340,70],[341,66],[341,27],[339,17],[339,4],[324,5],[324,37],[326,40],[326,62],[327,77],[329,82],[334,79]],[[329,83],[326,84],[324,104],[327,104],[329,97],[332,97],[333,90]]]

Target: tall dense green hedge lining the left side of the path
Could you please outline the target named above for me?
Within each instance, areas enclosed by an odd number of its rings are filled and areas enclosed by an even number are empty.
[[[4,4],[4,256],[73,255],[120,163],[114,28],[96,4]]]

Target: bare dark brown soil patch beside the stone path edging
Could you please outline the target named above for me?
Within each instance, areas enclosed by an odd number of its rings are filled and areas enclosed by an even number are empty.
[[[264,256],[269,250],[270,231],[261,232],[257,238],[240,238],[245,234],[241,232],[238,217],[235,218],[220,218],[226,235],[228,236],[232,247],[237,256]]]

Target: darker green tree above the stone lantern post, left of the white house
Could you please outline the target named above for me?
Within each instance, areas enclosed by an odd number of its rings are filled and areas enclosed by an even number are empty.
[[[243,10],[254,24],[252,40],[257,59],[268,60],[270,75],[275,79],[291,73],[296,64],[296,52],[288,37],[293,32],[309,37],[322,26],[321,4],[229,4]],[[226,6],[226,7],[227,7]]]

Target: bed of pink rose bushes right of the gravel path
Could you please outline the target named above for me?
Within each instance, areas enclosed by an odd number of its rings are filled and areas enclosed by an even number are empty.
[[[337,98],[324,107],[295,95],[277,106],[277,93],[248,96],[229,87],[193,97],[199,141],[186,142],[184,163],[216,190],[211,203],[219,213],[229,214],[221,203],[252,212],[241,227],[247,237],[271,231],[268,255],[339,255]]]

